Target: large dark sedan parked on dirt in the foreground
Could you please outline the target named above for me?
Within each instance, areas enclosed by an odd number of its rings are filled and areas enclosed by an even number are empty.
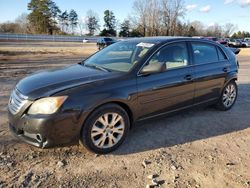
[[[213,41],[117,42],[78,64],[19,81],[8,105],[10,130],[42,148],[80,140],[92,152],[108,153],[136,121],[197,105],[229,110],[237,73],[233,52]]]

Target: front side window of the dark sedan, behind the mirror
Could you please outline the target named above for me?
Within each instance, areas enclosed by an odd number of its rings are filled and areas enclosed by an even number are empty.
[[[166,70],[188,65],[188,51],[185,42],[167,45],[161,48],[149,61],[149,64],[165,64]]]

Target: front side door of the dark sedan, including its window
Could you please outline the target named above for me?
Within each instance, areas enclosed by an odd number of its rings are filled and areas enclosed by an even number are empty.
[[[142,118],[193,104],[193,68],[187,43],[176,42],[158,50],[145,63],[164,63],[166,70],[137,77],[139,112]]]

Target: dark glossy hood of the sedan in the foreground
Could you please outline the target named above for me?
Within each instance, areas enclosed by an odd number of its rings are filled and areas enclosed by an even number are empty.
[[[34,100],[53,95],[65,89],[118,76],[119,73],[105,72],[75,64],[59,69],[34,73],[16,86],[23,95]]]

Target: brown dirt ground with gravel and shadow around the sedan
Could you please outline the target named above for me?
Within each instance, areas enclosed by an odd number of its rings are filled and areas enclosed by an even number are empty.
[[[39,149],[8,130],[16,82],[38,70],[79,62],[96,46],[0,43],[0,187],[250,187],[250,49],[238,56],[239,96],[228,112],[197,108],[138,124],[125,143],[96,156],[79,145]]]

